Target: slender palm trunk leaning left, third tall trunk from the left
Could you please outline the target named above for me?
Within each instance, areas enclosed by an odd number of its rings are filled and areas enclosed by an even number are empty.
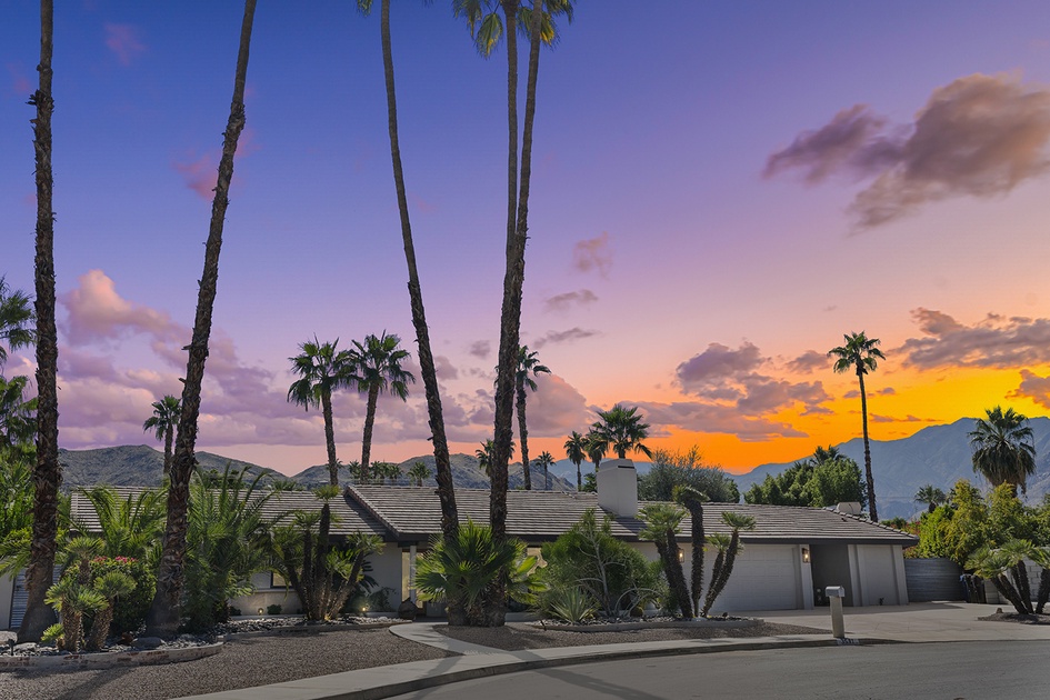
[[[444,414],[441,409],[441,393],[438,389],[438,371],[434,367],[433,352],[430,349],[430,330],[427,328],[423,292],[419,286],[419,272],[416,269],[416,246],[412,242],[408,197],[404,193],[404,173],[401,169],[401,147],[398,141],[398,102],[393,83],[393,51],[390,44],[390,0],[382,0],[380,30],[382,33],[383,76],[387,83],[387,126],[390,131],[390,159],[393,162],[393,181],[398,191],[398,210],[401,212],[401,240],[404,246],[404,261],[409,273],[408,288],[412,307],[412,326],[416,327],[416,342],[419,346],[419,368],[423,376],[427,413],[430,418],[430,432],[433,441],[434,479],[438,481],[438,499],[441,501],[441,531],[446,538],[453,538],[459,529],[459,513],[456,508],[456,490],[452,486],[452,463],[449,458],[449,442],[444,432]]]

